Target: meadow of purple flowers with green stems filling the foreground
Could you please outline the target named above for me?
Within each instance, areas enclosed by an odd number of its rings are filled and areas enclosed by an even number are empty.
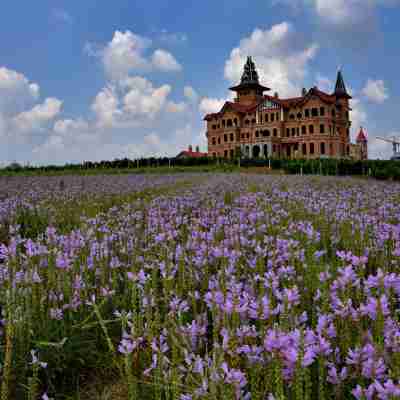
[[[399,185],[18,179],[0,189],[1,400],[84,398],[96,376],[129,400],[400,398]]]

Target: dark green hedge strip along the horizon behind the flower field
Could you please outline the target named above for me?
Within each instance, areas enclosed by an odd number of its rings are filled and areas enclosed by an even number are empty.
[[[228,160],[214,157],[200,158],[128,158],[113,161],[83,162],[81,164],[48,165],[44,167],[10,165],[1,171],[11,173],[26,172],[79,172],[95,170],[140,170],[147,168],[173,167],[213,167],[222,170],[234,170],[235,167],[270,167],[273,170],[283,170],[287,174],[304,175],[337,175],[337,176],[370,176],[377,179],[391,179],[400,181],[400,161],[367,160],[352,161],[346,159],[313,159],[313,160],[286,160],[286,159],[238,159]]]

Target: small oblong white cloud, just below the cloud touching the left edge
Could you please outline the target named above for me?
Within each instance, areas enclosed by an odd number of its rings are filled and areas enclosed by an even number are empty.
[[[18,131],[24,133],[41,129],[61,112],[62,104],[61,100],[47,98],[42,104],[15,116],[14,125]]]

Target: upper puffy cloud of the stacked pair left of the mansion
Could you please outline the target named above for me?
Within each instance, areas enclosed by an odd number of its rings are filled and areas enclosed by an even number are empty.
[[[89,56],[101,58],[107,77],[113,81],[124,79],[132,72],[182,70],[175,57],[166,50],[157,49],[152,55],[148,54],[152,45],[152,40],[129,30],[115,31],[105,47],[86,43],[84,51]]]

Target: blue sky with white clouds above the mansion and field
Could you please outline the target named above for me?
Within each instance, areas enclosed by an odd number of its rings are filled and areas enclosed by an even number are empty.
[[[22,11],[23,10],[23,11]],[[15,0],[0,15],[0,161],[44,164],[206,149],[202,116],[247,55],[281,97],[331,91],[355,136],[400,136],[400,0]]]

